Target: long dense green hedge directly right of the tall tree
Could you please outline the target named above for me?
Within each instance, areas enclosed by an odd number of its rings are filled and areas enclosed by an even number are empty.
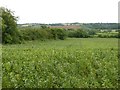
[[[61,39],[64,40],[66,33],[64,29],[50,29],[50,28],[31,28],[26,27],[20,29],[23,40],[45,40],[45,39]]]

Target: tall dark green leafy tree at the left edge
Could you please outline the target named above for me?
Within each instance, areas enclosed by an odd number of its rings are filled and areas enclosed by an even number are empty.
[[[17,17],[7,8],[0,7],[0,11],[2,12],[0,15],[2,20],[2,43],[20,43],[20,35],[17,30]]]

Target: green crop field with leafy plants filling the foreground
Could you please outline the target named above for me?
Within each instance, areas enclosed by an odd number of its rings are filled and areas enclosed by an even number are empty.
[[[118,39],[68,38],[2,46],[3,88],[117,88]]]

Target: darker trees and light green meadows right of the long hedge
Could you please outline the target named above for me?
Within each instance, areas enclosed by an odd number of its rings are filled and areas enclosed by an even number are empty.
[[[118,30],[108,30],[108,29],[88,29],[88,28],[80,28],[77,30],[70,29],[67,31],[68,37],[75,38],[119,38]]]

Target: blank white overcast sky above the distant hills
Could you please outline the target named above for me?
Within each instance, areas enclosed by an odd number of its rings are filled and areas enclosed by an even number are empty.
[[[120,0],[0,0],[23,23],[117,23]]]

